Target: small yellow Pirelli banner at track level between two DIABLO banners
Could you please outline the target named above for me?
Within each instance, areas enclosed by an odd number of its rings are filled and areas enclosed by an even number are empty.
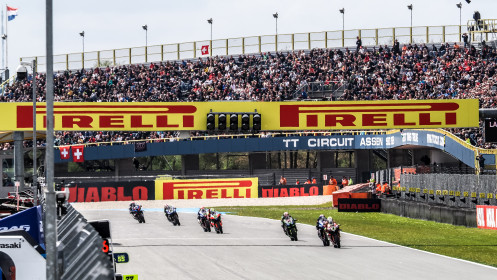
[[[155,200],[256,198],[258,178],[155,180]]]

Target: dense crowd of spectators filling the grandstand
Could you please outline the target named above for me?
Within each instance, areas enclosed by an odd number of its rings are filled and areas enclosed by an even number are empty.
[[[262,53],[63,71],[54,75],[55,101],[190,102],[309,99],[309,83],[344,86],[338,100],[477,98],[497,107],[497,51],[454,44],[407,44],[357,49]],[[44,73],[36,77],[44,101]],[[31,102],[32,78],[7,86],[0,102]],[[472,144],[485,144],[481,129],[452,129]],[[164,139],[172,132],[60,132],[56,145]],[[202,134],[197,132],[197,134]],[[5,149],[5,146],[3,147]]]

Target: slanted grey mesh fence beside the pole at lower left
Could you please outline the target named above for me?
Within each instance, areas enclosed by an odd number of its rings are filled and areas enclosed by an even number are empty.
[[[57,223],[58,274],[67,279],[114,279],[114,268],[102,251],[97,231],[71,205]]]

